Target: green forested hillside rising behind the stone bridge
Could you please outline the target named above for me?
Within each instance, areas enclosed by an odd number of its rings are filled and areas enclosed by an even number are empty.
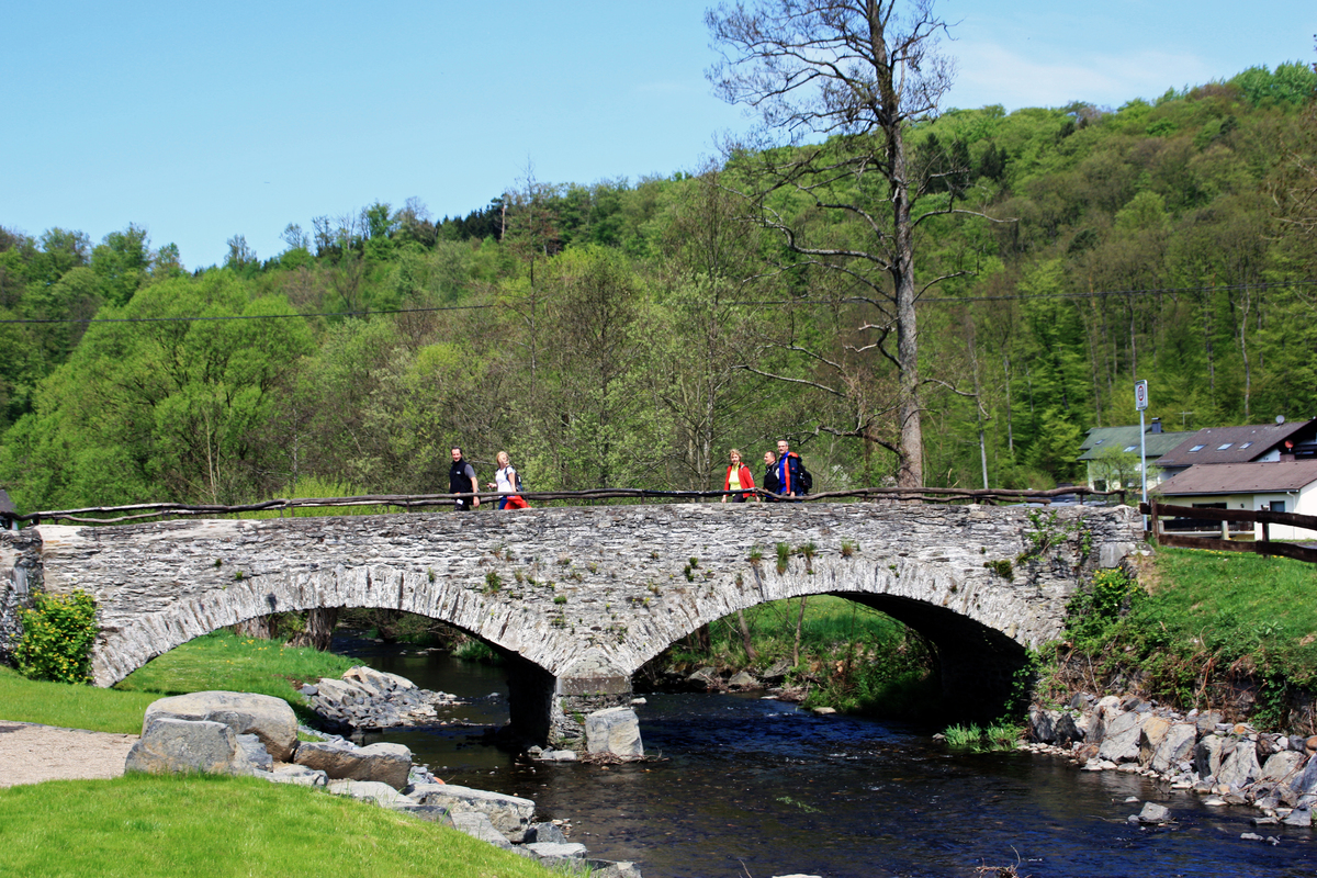
[[[918,305],[927,484],[1073,479],[1085,429],[1137,421],[1135,378],[1168,429],[1317,416],[1314,86],[1281,65],[909,130],[923,197],[967,211],[917,228],[919,284],[946,278]],[[523,180],[461,219],[373,204],[198,271],[133,225],[0,229],[0,487],[25,511],[433,492],[462,445],[532,490],[720,488],[731,446],[780,436],[818,488],[890,482],[890,315],[748,220],[863,229],[786,190],[747,205],[756,158]]]

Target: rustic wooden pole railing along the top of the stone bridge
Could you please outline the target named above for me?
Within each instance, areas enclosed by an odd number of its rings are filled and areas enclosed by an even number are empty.
[[[853,488],[848,491],[820,491],[806,496],[782,498],[769,494],[763,488],[752,491],[652,491],[647,488],[593,488],[589,491],[522,491],[520,496],[531,502],[551,503],[594,503],[598,500],[651,500],[651,502],[681,502],[702,499],[720,499],[736,496],[739,494],[756,494],[766,500],[774,502],[805,502],[817,500],[903,500],[918,503],[984,503],[1019,504],[1039,503],[1051,504],[1058,498],[1110,498],[1117,496],[1123,503],[1125,491],[1094,491],[1087,487],[1062,487],[1048,491],[1025,491],[1009,488]],[[275,512],[281,517],[300,508],[352,508],[352,507],[392,507],[396,509],[424,509],[427,507],[452,505],[458,498],[471,498],[473,494],[381,494],[352,498],[299,498],[265,500],[262,503],[246,503],[241,505],[220,504],[186,504],[186,503],[136,503],[132,505],[83,507],[79,509],[47,509],[42,512],[29,512],[18,515],[16,512],[0,511],[0,527],[9,529],[20,524],[55,524],[70,521],[74,524],[120,524],[124,521],[140,521],[142,519],[159,517],[215,517],[224,515],[240,515],[244,512]],[[497,494],[481,492],[481,502],[494,502]]]

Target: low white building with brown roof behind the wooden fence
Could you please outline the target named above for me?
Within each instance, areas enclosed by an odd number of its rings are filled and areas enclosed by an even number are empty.
[[[1317,459],[1191,466],[1156,490],[1163,503],[1317,516]],[[1262,525],[1254,529],[1262,538]],[[1271,525],[1272,540],[1317,540],[1317,530]]]

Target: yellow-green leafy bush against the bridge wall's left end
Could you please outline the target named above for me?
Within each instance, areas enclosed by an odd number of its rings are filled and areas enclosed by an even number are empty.
[[[18,673],[57,683],[91,682],[91,646],[96,640],[96,602],[86,591],[51,595],[38,591],[24,609],[22,637],[14,650]]]

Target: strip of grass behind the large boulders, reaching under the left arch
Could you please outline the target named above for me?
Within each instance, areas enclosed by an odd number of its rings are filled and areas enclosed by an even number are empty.
[[[341,677],[353,665],[333,653],[217,631],[159,656],[113,688],[30,681],[0,667],[0,719],[138,735],[151,702],[207,690],[282,698],[306,719],[294,681]]]

